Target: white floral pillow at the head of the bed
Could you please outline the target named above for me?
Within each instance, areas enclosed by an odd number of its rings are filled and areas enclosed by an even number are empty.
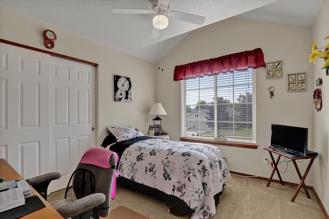
[[[134,137],[144,136],[144,134],[134,126],[129,126],[129,127],[110,126],[108,127],[108,131],[110,131],[117,138],[117,142],[130,140]]]

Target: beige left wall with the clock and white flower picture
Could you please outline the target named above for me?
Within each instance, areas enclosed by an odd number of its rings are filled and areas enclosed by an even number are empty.
[[[105,47],[36,19],[0,7],[0,38],[15,43],[47,50],[43,31],[57,34],[51,52],[97,63],[97,146],[108,134],[107,127],[136,126],[144,134],[152,123],[148,113],[155,102],[155,66],[134,56]],[[114,74],[127,76],[132,81],[132,103],[114,102]]]

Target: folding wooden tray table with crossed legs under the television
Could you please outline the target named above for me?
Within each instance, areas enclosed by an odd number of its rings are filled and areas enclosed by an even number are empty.
[[[297,196],[297,194],[298,194],[298,192],[299,192],[299,190],[300,190],[300,188],[301,188],[302,186],[303,186],[303,188],[304,188],[304,190],[305,190],[305,193],[306,193],[307,197],[310,198],[310,196],[309,196],[309,194],[308,194],[308,191],[307,191],[307,188],[306,188],[306,186],[305,186],[304,181],[305,181],[305,178],[306,178],[306,176],[307,176],[307,173],[308,173],[310,167],[312,166],[312,164],[313,164],[313,162],[314,162],[314,159],[317,158],[317,156],[298,156],[298,157],[291,157],[291,156],[288,156],[288,155],[286,155],[286,154],[284,154],[284,153],[281,153],[279,150],[276,150],[275,148],[264,148],[264,149],[267,150],[267,151],[269,152],[269,155],[271,156],[271,158],[272,158],[272,162],[273,162],[273,164],[274,164],[274,168],[273,168],[273,170],[272,170],[271,176],[269,177],[269,180],[268,180],[268,183],[267,183],[266,187],[268,187],[269,184],[271,183],[272,177],[273,177],[273,175],[274,175],[274,173],[275,173],[276,171],[277,171],[277,173],[278,173],[278,176],[279,176],[279,179],[280,179],[281,185],[284,185],[284,184],[283,184],[283,181],[282,181],[282,178],[281,178],[281,175],[280,175],[280,172],[279,172],[279,169],[278,169],[278,164],[279,164],[279,161],[280,161],[280,157],[281,157],[281,156],[284,156],[284,157],[287,157],[287,158],[289,158],[289,159],[291,159],[291,160],[293,161],[294,166],[295,166],[295,168],[296,168],[296,171],[297,171],[297,173],[298,173],[298,176],[299,176],[299,178],[300,178],[300,183],[298,184],[298,186],[297,186],[297,188],[296,188],[296,191],[295,191],[295,193],[294,193],[294,195],[293,195],[293,198],[291,198],[290,202],[294,202],[294,201],[295,201],[295,198],[296,198],[296,196]],[[275,154],[278,154],[278,155],[279,155],[278,158],[277,158],[277,161],[274,160],[274,157],[273,157],[273,154],[272,154],[272,153],[275,153]],[[300,174],[300,171],[299,171],[299,169],[298,169],[298,166],[297,166],[296,160],[307,160],[307,159],[310,159],[310,162],[308,163],[308,166],[307,166],[307,168],[306,168],[306,170],[305,170],[305,173],[304,173],[304,175],[303,175],[303,177],[302,177],[302,175]]]

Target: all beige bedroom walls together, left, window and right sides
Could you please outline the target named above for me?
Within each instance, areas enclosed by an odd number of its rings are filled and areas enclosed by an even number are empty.
[[[85,59],[98,63],[97,68],[97,144],[100,145],[107,135],[108,125],[135,125],[145,134],[152,123],[153,116],[148,112],[153,103],[160,102],[168,115],[161,116],[162,128],[170,134],[171,140],[180,137],[180,82],[173,82],[176,65],[200,61],[226,54],[262,48],[265,62],[283,60],[284,78],[265,79],[265,70],[257,70],[257,144],[259,148],[242,149],[221,146],[230,170],[259,175],[267,166],[263,156],[268,156],[263,147],[269,146],[270,124],[285,124],[309,129],[308,145],[319,152],[314,167],[306,178],[306,184],[314,186],[322,203],[329,211],[329,171],[328,171],[328,109],[329,91],[322,86],[323,108],[321,112],[313,109],[313,90],[315,79],[321,65],[309,64],[307,57],[313,40],[318,45],[326,45],[323,37],[327,31],[329,2],[324,1],[313,28],[282,25],[276,23],[249,21],[229,18],[225,21],[200,28],[192,32],[181,44],[158,64],[153,64],[134,56],[104,47],[95,42],[53,27],[46,23],[26,17],[6,8],[0,8],[0,38],[20,44],[45,49],[43,31],[51,29],[58,39],[52,52]],[[26,35],[22,36],[23,33]],[[286,73],[307,73],[307,91],[286,92]],[[131,77],[133,83],[133,102],[115,103],[113,101],[113,75]],[[321,77],[325,82],[329,76],[324,71]],[[156,87],[154,82],[156,80]],[[328,83],[326,83],[328,84]],[[275,96],[269,98],[267,88],[275,87]],[[156,95],[155,95],[156,93]],[[304,171],[308,162],[300,163]],[[285,164],[280,165],[285,170]],[[269,177],[267,172],[264,177]],[[282,174],[285,181],[298,183],[299,179],[291,162]],[[326,185],[326,186],[325,186]],[[298,198],[298,197],[297,197]]]

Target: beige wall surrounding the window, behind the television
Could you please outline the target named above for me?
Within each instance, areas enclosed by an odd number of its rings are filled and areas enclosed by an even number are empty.
[[[257,70],[257,144],[258,149],[219,146],[226,157],[231,171],[260,175],[267,170],[263,156],[268,156],[263,147],[270,144],[271,124],[306,127],[309,129],[309,149],[315,149],[313,142],[313,65],[308,63],[312,48],[312,32],[309,27],[228,18],[188,35],[172,52],[162,59],[163,72],[157,72],[156,99],[165,107],[168,116],[162,118],[162,128],[168,131],[171,140],[180,137],[180,82],[173,81],[176,65],[196,62],[208,58],[262,48],[265,62],[283,60],[281,79],[266,79],[265,68]],[[287,92],[286,74],[306,72],[307,91]],[[269,87],[275,88],[270,98]],[[316,161],[319,162],[319,161]],[[303,172],[308,162],[299,163]],[[285,164],[279,169],[284,171]],[[311,172],[315,168],[311,169]],[[268,171],[264,177],[269,177]],[[312,175],[312,174],[310,174]],[[275,174],[275,178],[278,177]],[[299,183],[299,177],[292,162],[282,174],[284,181]],[[306,185],[313,186],[312,177],[306,178]]]

